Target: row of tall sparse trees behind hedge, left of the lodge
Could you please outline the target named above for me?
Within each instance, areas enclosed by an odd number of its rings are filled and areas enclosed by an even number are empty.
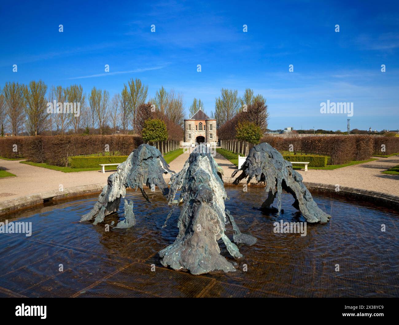
[[[112,98],[107,90],[97,87],[87,95],[81,85],[47,87],[41,80],[28,85],[9,82],[0,89],[1,135],[137,133],[138,107],[145,103],[177,125],[184,124],[183,95],[162,86],[148,100],[148,85],[140,79],[128,80]],[[71,112],[77,107],[78,114]]]

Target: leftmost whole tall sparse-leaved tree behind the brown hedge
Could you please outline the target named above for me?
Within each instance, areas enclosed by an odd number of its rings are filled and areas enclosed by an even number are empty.
[[[4,86],[4,98],[12,135],[17,136],[23,130],[25,122],[24,85],[15,82],[6,83]]]

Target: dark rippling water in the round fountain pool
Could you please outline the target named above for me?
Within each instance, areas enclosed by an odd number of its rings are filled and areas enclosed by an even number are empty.
[[[284,214],[253,209],[265,198],[263,188],[247,193],[227,187],[231,211],[243,232],[258,238],[241,246],[240,269],[229,274],[193,276],[162,267],[158,251],[178,233],[175,209],[160,193],[146,203],[134,200],[137,225],[105,232],[104,225],[75,223],[91,209],[97,195],[47,205],[0,221],[32,222],[32,236],[0,234],[0,296],[28,297],[397,297],[399,296],[398,216],[365,202],[314,194],[332,215],[326,225],[307,225],[307,235],[275,234],[275,221],[305,221],[283,195]],[[122,203],[123,205],[123,203]],[[123,215],[107,216],[106,223]],[[381,232],[381,225],[386,231]],[[231,238],[231,227],[227,226]],[[221,254],[230,258],[224,245]],[[63,264],[63,271],[59,271]],[[151,272],[155,264],[155,272]],[[243,272],[247,264],[247,272]],[[336,264],[340,271],[336,272]]]

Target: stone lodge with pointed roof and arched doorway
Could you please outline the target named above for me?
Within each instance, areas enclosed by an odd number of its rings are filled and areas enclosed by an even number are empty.
[[[217,142],[216,120],[209,118],[201,108],[187,120],[184,120],[184,142],[211,143]]]

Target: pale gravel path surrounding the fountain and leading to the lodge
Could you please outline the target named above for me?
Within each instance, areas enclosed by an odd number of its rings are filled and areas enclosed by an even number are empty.
[[[170,163],[170,168],[180,171],[189,154],[180,155]],[[236,167],[220,154],[215,160],[223,168],[225,179],[231,177]],[[380,172],[392,166],[399,165],[399,156],[380,158],[379,160],[344,167],[335,170],[300,171],[304,181],[312,183],[339,184],[359,189],[379,191],[391,195],[399,195],[399,175],[385,175]],[[0,201],[15,199],[25,195],[59,189],[62,184],[64,189],[79,185],[106,183],[107,177],[113,171],[101,173],[98,171],[81,171],[77,173],[63,173],[51,169],[34,167],[19,163],[19,161],[0,160],[0,167],[17,175],[17,177],[0,178]]]

